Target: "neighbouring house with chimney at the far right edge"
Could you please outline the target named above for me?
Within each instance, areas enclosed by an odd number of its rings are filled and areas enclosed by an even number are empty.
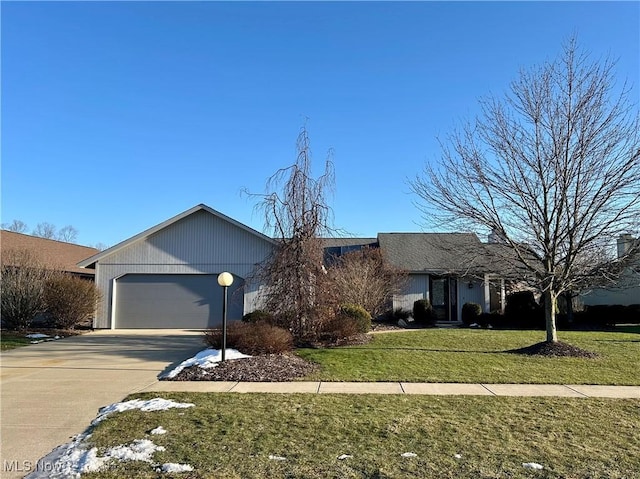
[[[632,235],[621,235],[617,241],[618,258],[627,254],[632,247],[640,244],[640,238]],[[588,306],[600,304],[640,304],[640,256],[626,268],[615,284],[607,288],[592,288],[580,295],[583,304]]]

